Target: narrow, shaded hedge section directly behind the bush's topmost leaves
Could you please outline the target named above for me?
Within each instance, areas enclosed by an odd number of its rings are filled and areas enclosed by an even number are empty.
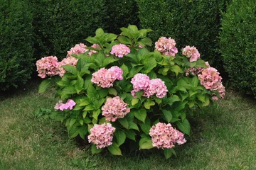
[[[120,28],[129,24],[138,25],[138,7],[135,0],[109,0],[105,4],[106,16],[104,19],[108,33],[121,33]]]

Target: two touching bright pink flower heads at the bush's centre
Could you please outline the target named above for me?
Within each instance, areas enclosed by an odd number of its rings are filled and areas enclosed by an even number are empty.
[[[131,91],[132,96],[136,97],[135,92],[144,90],[143,96],[149,98],[156,94],[158,98],[164,98],[167,94],[167,88],[164,81],[161,79],[149,79],[146,74],[136,74],[132,78],[133,90]]]

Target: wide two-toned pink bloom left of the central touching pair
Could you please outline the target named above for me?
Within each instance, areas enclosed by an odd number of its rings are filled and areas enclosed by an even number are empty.
[[[91,81],[102,88],[109,88],[110,86],[113,86],[113,82],[116,79],[123,79],[122,73],[122,69],[117,66],[113,66],[110,69],[102,68],[92,74]]]

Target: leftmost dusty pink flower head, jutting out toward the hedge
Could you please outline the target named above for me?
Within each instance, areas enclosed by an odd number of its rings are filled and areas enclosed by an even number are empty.
[[[36,70],[38,76],[46,78],[47,76],[52,77],[58,74],[58,59],[56,56],[43,57],[41,60],[36,62]]]

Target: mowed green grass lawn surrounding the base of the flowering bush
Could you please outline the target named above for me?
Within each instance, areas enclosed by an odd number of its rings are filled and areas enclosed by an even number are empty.
[[[165,159],[157,150],[91,155],[61,123],[33,114],[58,101],[53,90],[37,90],[33,82],[0,95],[0,169],[256,169],[255,99],[228,91],[225,100],[196,112],[188,142]]]

